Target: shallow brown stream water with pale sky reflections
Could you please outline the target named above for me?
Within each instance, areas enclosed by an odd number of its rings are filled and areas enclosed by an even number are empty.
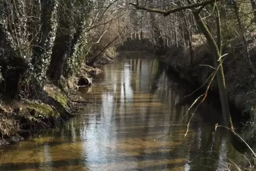
[[[242,159],[224,132],[211,136],[215,110],[208,104],[184,138],[190,104],[179,102],[187,85],[159,70],[157,59],[126,57],[102,69],[99,86],[79,93],[97,104],[2,149],[0,170],[226,170],[227,161]]]

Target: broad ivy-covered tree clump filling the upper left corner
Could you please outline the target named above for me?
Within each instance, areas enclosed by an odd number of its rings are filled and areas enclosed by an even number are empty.
[[[4,91],[18,96],[28,91],[29,83],[33,90],[40,91],[56,33],[57,3],[54,0],[1,1],[0,6]]]

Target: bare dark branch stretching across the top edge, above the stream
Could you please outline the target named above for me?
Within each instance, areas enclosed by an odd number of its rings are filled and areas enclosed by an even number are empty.
[[[216,0],[216,1],[218,1],[218,0]],[[204,1],[204,2],[201,2],[201,3],[195,3],[195,4],[191,4],[191,5],[187,5],[187,6],[180,6],[180,7],[172,8],[171,10],[168,10],[168,11],[158,10],[158,9],[155,9],[155,8],[147,8],[147,7],[139,6],[139,4],[134,4],[134,3],[130,3],[130,4],[133,5],[138,10],[144,10],[144,11],[147,11],[147,12],[159,13],[159,14],[163,14],[164,16],[167,16],[167,15],[169,15],[171,13],[174,13],[174,12],[177,12],[177,11],[191,9],[191,8],[195,8],[195,7],[206,6],[208,4],[215,3],[216,1],[215,0]]]

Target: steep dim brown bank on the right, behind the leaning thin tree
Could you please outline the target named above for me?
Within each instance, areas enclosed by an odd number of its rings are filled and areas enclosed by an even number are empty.
[[[191,66],[189,48],[173,47],[167,50],[161,58],[168,65],[172,66],[181,76],[195,84],[203,84],[212,69],[212,57],[206,40],[201,35],[193,36],[194,66]],[[256,66],[256,42],[252,38],[249,41],[250,58]],[[235,108],[241,109],[242,113],[256,114],[256,91],[255,78],[252,69],[249,67],[249,59],[246,56],[243,44],[234,40],[223,45],[223,54],[227,54],[224,63],[224,74],[227,87],[228,99]],[[217,82],[214,81],[211,90],[218,93]]]

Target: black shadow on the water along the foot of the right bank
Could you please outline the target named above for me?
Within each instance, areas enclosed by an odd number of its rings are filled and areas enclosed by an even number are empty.
[[[183,80],[180,78],[180,75],[178,73],[175,73],[175,71],[167,66],[164,62],[159,61],[159,69],[157,71],[157,74],[155,75],[155,81],[153,82],[152,86],[152,93],[158,88],[156,86],[157,81],[160,78],[161,74],[167,75],[168,82],[172,82],[174,86],[172,87],[172,90],[175,91],[180,91],[180,97],[181,99],[178,102],[179,106],[183,106],[185,104],[193,104],[194,100],[197,99],[200,95],[202,95],[205,92],[205,88],[201,88],[199,90],[197,86],[194,84],[191,84],[187,82],[186,80]],[[178,85],[178,86],[177,86]],[[180,88],[182,87],[182,88]],[[195,91],[197,90],[197,91]],[[194,92],[191,96],[190,95],[192,92]],[[197,106],[198,103],[196,103],[194,106]],[[240,109],[236,109],[234,107],[234,104],[230,103],[229,107],[231,109],[231,114],[233,118],[233,124],[236,129],[236,133],[241,134],[241,128],[243,127],[242,122],[243,120],[248,120],[248,117],[242,117],[242,111]],[[221,104],[220,104],[220,99],[219,95],[215,92],[209,91],[208,96],[203,104],[201,104],[199,110],[199,114],[201,114],[203,121],[204,122],[211,122],[214,125],[219,124],[219,125],[224,125],[223,121],[223,115],[221,112]],[[215,131],[215,126],[212,125],[212,132]],[[236,135],[234,135],[231,131],[226,130],[229,134],[230,142],[232,143],[233,147],[240,152],[245,152],[249,150],[248,146]]]

